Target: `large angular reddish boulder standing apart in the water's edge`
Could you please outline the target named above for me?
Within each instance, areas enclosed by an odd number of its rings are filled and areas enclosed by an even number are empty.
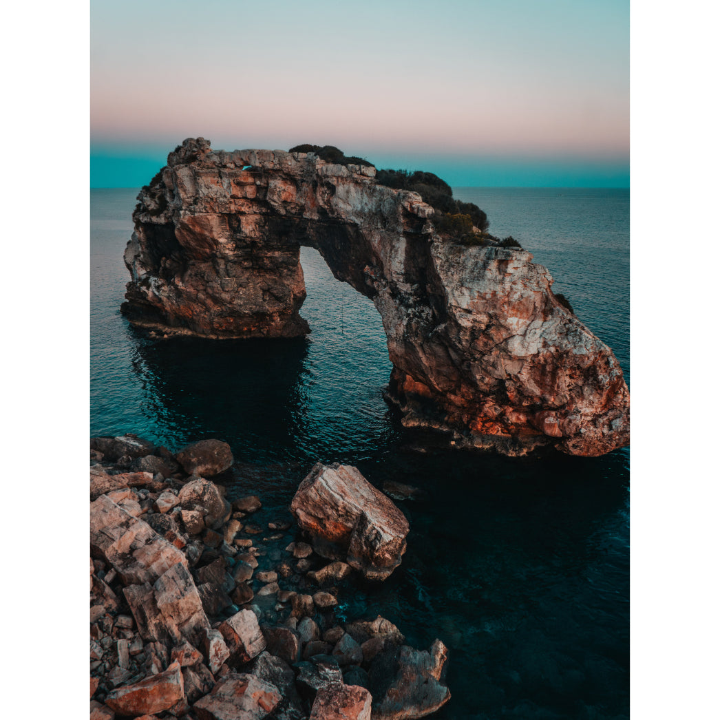
[[[408,521],[356,467],[315,464],[290,510],[302,529],[347,548],[348,564],[369,580],[384,580],[400,564]]]

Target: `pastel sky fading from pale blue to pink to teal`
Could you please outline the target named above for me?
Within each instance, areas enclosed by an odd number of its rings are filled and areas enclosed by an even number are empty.
[[[627,187],[629,1],[93,0],[91,184],[145,184],[199,135]]]

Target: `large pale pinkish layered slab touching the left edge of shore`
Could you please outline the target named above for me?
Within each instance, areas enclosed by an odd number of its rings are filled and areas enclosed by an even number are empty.
[[[184,554],[104,495],[90,504],[90,549],[107,560],[125,585],[155,582]]]

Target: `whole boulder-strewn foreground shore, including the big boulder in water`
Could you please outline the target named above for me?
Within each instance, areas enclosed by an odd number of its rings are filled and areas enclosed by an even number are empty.
[[[263,526],[261,498],[208,479],[233,464],[222,441],[90,445],[91,720],[401,720],[449,700],[439,639],[415,649],[339,612],[352,573],[395,570],[409,529],[357,469],[318,463]]]

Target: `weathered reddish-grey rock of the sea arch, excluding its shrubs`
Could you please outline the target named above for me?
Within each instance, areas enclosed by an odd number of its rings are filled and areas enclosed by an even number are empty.
[[[440,235],[420,195],[374,174],[186,140],[138,196],[123,312],[163,333],[302,336],[310,246],[377,307],[405,426],[508,455],[629,444],[618,361],[554,297],[549,272],[526,251]]]

